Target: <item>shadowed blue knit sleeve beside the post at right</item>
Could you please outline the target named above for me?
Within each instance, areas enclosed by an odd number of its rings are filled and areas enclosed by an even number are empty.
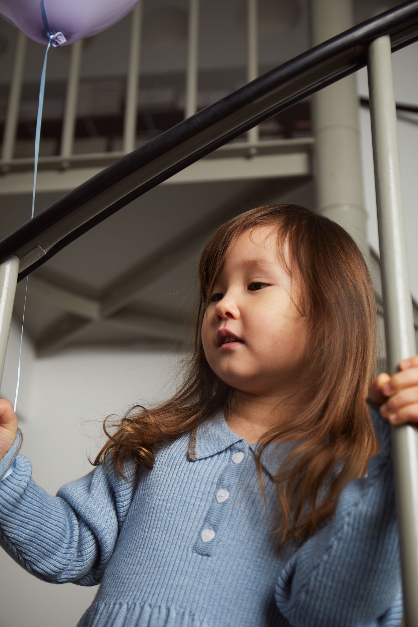
[[[276,603],[293,627],[398,627],[399,533],[390,423],[369,403],[381,450],[343,490],[331,522],[287,562]]]

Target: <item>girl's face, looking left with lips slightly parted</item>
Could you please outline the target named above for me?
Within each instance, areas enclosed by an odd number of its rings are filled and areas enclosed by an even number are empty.
[[[307,325],[290,287],[277,256],[276,227],[241,234],[227,253],[202,322],[207,362],[229,386],[264,396],[286,393],[300,381]]]

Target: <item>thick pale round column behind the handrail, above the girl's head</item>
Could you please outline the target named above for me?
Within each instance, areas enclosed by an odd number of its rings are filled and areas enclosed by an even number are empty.
[[[353,26],[352,0],[310,0],[311,45]],[[312,97],[316,211],[341,224],[368,255],[355,74]]]

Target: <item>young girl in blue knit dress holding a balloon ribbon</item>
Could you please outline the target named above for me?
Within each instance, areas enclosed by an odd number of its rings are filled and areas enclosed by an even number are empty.
[[[382,416],[418,421],[418,356],[372,381],[360,250],[324,216],[262,206],[212,234],[199,280],[185,381],[113,435],[105,420],[95,468],[56,497],[0,402],[1,545],[44,581],[100,583],[78,627],[397,627]]]

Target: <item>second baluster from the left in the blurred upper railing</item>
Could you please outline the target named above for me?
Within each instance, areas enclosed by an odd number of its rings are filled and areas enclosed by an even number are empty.
[[[63,131],[61,134],[60,156],[63,157],[64,160],[62,163],[63,166],[68,165],[65,162],[65,159],[73,154],[82,51],[83,40],[78,40],[71,44],[70,68],[68,69],[68,80],[65,95]]]

